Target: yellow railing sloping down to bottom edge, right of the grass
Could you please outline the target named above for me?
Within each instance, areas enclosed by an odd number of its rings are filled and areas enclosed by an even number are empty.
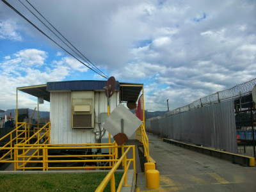
[[[120,180],[120,183],[119,183],[118,188],[116,189],[116,191],[117,192],[121,191],[123,184],[124,184],[124,186],[127,186],[127,171],[128,171],[129,166],[131,164],[131,161],[133,161],[134,184],[136,184],[135,148],[134,148],[134,145],[132,145],[132,146],[125,146],[125,147],[128,147],[127,150],[125,150],[125,152],[122,155],[122,157],[120,157],[120,159],[116,162],[116,164],[109,171],[108,175],[106,175],[104,180],[102,180],[102,182],[100,183],[100,185],[98,186],[98,188],[95,191],[97,191],[97,192],[104,191],[104,189],[106,188],[106,186],[107,186],[107,184],[108,184],[108,182],[110,180],[111,192],[115,192],[115,171],[117,170],[118,166],[122,162],[124,162],[124,175],[123,175],[122,179]],[[129,152],[129,150],[131,148],[132,148],[133,158],[132,159],[127,159],[127,157],[126,157],[127,152]],[[128,161],[128,164],[127,164],[127,161]]]

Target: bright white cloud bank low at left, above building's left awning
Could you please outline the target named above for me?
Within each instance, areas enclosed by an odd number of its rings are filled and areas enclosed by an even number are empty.
[[[72,58],[47,63],[48,53],[38,49],[24,49],[0,61],[0,103],[1,109],[15,108],[17,87],[45,84],[49,81],[63,81],[74,72],[86,72]],[[8,98],[8,99],[6,99]],[[28,94],[19,93],[20,108],[35,108],[37,102]],[[42,108],[49,110],[49,104]]]

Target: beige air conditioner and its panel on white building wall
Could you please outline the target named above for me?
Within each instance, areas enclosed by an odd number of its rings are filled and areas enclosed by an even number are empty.
[[[94,128],[94,92],[72,92],[72,128]]]

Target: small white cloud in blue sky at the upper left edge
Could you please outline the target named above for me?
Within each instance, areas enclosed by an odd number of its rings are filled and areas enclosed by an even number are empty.
[[[0,22],[0,39],[10,39],[15,41],[21,41],[22,37],[20,36],[17,30],[19,26],[12,19],[3,20]]]

